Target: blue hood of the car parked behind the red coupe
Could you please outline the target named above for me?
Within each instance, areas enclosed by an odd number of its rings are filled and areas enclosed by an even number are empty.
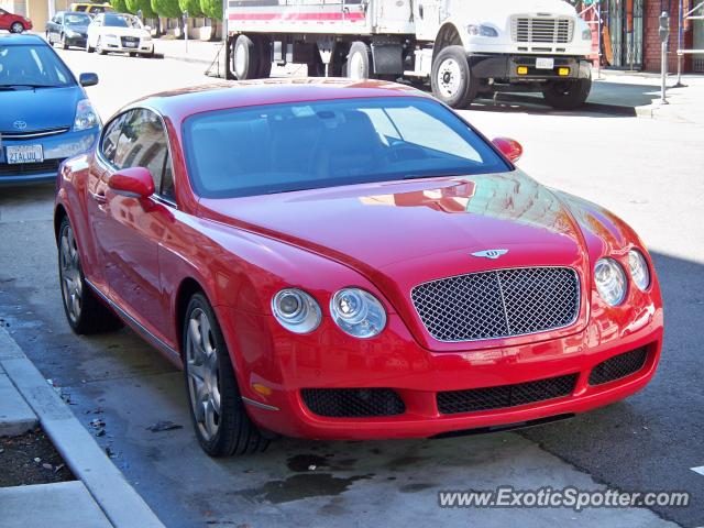
[[[86,96],[78,86],[2,91],[0,133],[32,132],[70,127],[76,117],[76,103]],[[23,122],[18,129],[14,123]]]

